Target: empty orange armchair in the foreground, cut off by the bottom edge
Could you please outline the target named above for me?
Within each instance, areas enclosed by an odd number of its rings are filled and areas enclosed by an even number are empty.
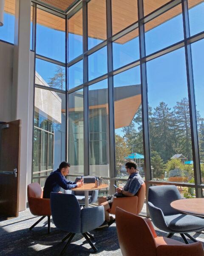
[[[116,228],[123,256],[204,256],[201,242],[184,244],[157,236],[150,220],[116,208]]]

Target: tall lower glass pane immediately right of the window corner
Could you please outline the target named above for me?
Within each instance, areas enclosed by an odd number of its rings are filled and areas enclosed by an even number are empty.
[[[83,90],[69,94],[68,162],[70,174],[84,174],[84,100]]]

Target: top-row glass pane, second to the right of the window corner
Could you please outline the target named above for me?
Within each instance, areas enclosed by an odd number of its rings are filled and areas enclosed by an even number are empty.
[[[88,2],[88,49],[106,40],[105,0]]]

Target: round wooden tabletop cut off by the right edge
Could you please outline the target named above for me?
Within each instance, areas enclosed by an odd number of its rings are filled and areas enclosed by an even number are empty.
[[[190,215],[204,217],[204,198],[187,198],[173,201],[173,209]]]

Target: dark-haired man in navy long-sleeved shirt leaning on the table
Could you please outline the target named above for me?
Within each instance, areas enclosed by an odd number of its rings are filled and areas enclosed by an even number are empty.
[[[50,198],[51,192],[59,192],[60,188],[68,190],[74,189],[76,187],[82,186],[82,180],[76,182],[71,182],[65,178],[69,174],[70,164],[67,162],[62,162],[59,165],[59,169],[47,177],[45,181],[45,186],[43,189],[43,198]]]

